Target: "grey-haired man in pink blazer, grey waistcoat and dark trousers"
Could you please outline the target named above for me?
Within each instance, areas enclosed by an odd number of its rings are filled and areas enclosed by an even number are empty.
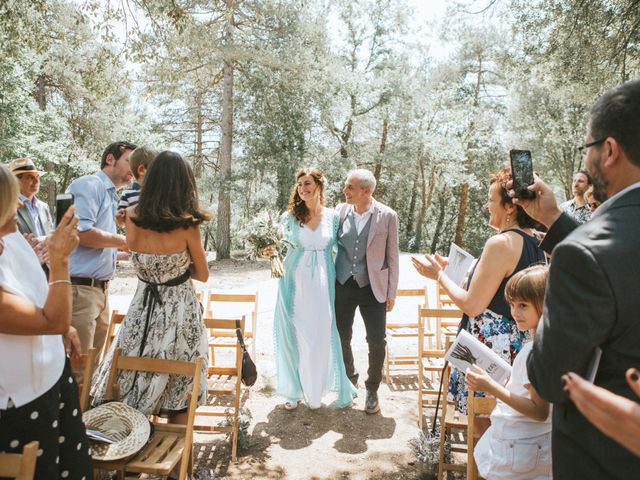
[[[344,189],[346,203],[336,207],[340,215],[336,257],[336,325],[342,343],[347,376],[354,385],[358,373],[353,364],[351,337],[356,308],[364,320],[369,345],[365,412],[380,411],[378,387],[385,356],[387,312],[398,289],[398,216],[373,198],[376,179],[364,169],[352,170]]]

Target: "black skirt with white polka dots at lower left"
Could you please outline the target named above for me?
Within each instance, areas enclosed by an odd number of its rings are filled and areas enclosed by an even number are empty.
[[[39,442],[36,479],[93,479],[78,386],[69,360],[58,383],[19,408],[0,409],[0,452],[21,453]]]

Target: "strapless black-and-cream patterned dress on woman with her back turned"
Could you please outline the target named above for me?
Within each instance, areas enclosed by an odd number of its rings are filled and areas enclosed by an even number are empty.
[[[160,301],[145,302],[146,282],[161,284],[184,274],[191,257],[188,251],[172,255],[133,252],[138,288],[116,338],[100,368],[93,377],[91,395],[94,405],[105,401],[106,384],[114,349],[123,356],[142,356],[166,360],[194,362],[199,356],[208,360],[207,334],[202,322],[202,307],[196,298],[193,282],[157,287]],[[151,295],[148,295],[151,297]],[[149,325],[144,339],[148,311]],[[208,361],[205,362],[208,364]],[[192,378],[146,372],[120,372],[122,402],[150,414],[179,412],[187,408]],[[207,392],[207,370],[203,369],[198,403],[203,405]]]

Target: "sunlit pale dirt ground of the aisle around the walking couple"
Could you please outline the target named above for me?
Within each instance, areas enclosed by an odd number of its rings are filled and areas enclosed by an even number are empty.
[[[424,285],[410,264],[401,257],[400,287]],[[126,311],[137,279],[127,262],[121,263],[110,287],[111,307]],[[275,393],[273,358],[273,311],[277,281],[270,279],[266,262],[229,260],[211,263],[206,285],[196,288],[259,292],[257,358],[259,378],[251,388],[243,387],[243,408],[250,413],[247,446],[239,449],[237,462],[231,461],[229,441],[220,434],[197,434],[195,460],[200,479],[415,479],[420,465],[408,445],[419,433],[417,418],[417,373],[400,372],[391,384],[380,386],[381,412],[363,411],[363,377],[367,369],[367,344],[361,318],[356,318],[353,349],[361,373],[358,398],[351,408],[338,410],[332,399],[319,410],[301,405],[294,411],[283,408]],[[430,285],[429,288],[433,288]],[[392,317],[415,318],[417,303],[398,304]],[[394,343],[401,353],[417,344]],[[364,374],[364,375],[363,375]]]

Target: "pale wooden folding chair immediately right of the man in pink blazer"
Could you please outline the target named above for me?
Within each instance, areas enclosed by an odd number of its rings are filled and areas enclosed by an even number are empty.
[[[400,321],[401,317],[404,316],[405,319],[410,319],[411,316],[406,315],[406,311],[402,311],[403,305],[398,305],[399,303],[404,303],[402,300],[414,300],[414,303],[418,305],[428,305],[427,298],[427,288],[405,288],[399,289],[396,294],[396,305],[394,309],[387,314],[387,324],[386,324],[386,335],[387,335],[387,345],[386,355],[385,355],[385,377],[387,384],[391,383],[391,369],[397,365],[413,365],[417,366],[418,364],[418,350],[415,349],[415,353],[413,355],[392,355],[390,344],[394,342],[396,339],[409,339],[410,341],[416,342],[418,340],[418,321],[417,320],[408,320],[408,321]],[[414,347],[415,348],[415,347]]]

